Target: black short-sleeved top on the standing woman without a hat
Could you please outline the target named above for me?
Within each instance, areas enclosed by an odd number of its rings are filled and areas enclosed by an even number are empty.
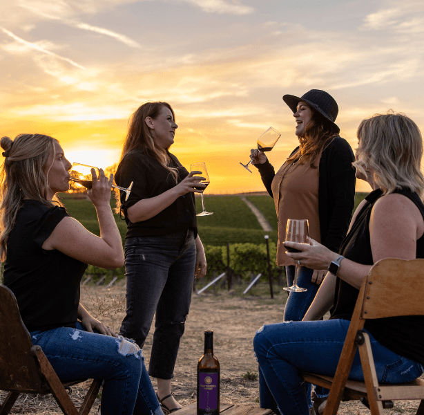
[[[171,167],[175,167],[178,171],[178,183],[180,183],[189,175],[189,172],[173,154],[168,153],[168,156],[171,158]],[[132,181],[134,182],[128,201],[124,201],[125,194],[121,192],[122,208],[128,225],[126,238],[164,235],[189,228],[193,229],[194,237],[197,237],[193,192],[180,196],[151,219],[135,223],[128,219],[126,211],[135,203],[142,199],[159,196],[177,185],[171,172],[160,165],[153,157],[148,156],[144,149],[135,149],[125,155],[119,163],[115,181],[117,185],[122,187],[128,187]]]

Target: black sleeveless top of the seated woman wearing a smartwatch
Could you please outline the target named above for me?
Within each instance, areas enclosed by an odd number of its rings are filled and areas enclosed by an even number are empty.
[[[395,193],[403,194],[411,199],[424,218],[424,205],[416,193],[409,192],[409,190],[396,190]],[[351,230],[340,246],[341,255],[358,262],[358,264],[374,264],[369,235],[369,219],[374,203],[382,195],[383,192],[378,189],[365,198],[367,203],[356,216]],[[424,258],[424,236],[416,241],[416,257]],[[335,307],[331,319],[351,320],[358,294],[359,291],[356,288],[343,279],[337,278]],[[408,315],[367,320],[365,329],[387,349],[424,365],[424,316]]]

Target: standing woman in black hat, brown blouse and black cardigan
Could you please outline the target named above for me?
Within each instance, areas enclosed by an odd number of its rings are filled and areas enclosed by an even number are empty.
[[[351,165],[353,151],[338,135],[340,129],[335,124],[338,105],[329,93],[311,89],[300,98],[284,95],[282,99],[293,111],[300,145],[277,173],[262,151],[252,149],[251,158],[276,205],[277,264],[285,266],[287,286],[291,286],[295,266],[282,245],[287,219],[308,219],[309,236],[337,252],[354,208],[355,170]],[[302,320],[328,272],[299,265],[297,284],[307,291],[289,294],[285,321]],[[315,409],[318,410],[326,395],[325,389],[316,388],[313,396]],[[261,407],[273,409],[269,406],[272,400],[266,383],[260,382]]]

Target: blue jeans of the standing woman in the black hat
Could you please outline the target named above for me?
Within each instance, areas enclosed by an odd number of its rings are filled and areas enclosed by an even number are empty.
[[[286,278],[287,286],[292,286],[294,281],[295,266],[286,266]],[[307,291],[302,293],[289,293],[285,310],[284,310],[284,321],[300,322],[308,311],[309,306],[314,301],[316,293],[318,293],[319,285],[312,283],[312,274],[314,270],[307,268],[306,266],[298,266],[298,276],[296,283],[302,288],[307,288]],[[264,382],[262,382],[262,385]],[[309,400],[309,406],[312,406],[311,402],[311,385],[308,386],[307,396]],[[262,391],[262,394],[267,394],[267,391]],[[316,386],[315,393],[318,398],[326,398],[329,394],[329,389],[325,387]]]

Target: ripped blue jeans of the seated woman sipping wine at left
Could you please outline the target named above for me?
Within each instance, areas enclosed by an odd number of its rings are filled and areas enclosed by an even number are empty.
[[[89,333],[80,322],[30,335],[60,380],[104,379],[102,415],[163,415],[135,343]]]

